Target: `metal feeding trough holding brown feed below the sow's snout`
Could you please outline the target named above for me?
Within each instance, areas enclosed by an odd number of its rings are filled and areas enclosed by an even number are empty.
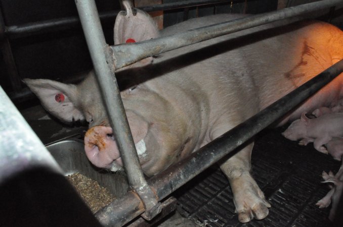
[[[113,173],[94,166],[84,153],[82,140],[63,140],[47,146],[47,149],[61,166],[65,176],[82,174],[97,181],[117,198],[127,192],[128,184],[124,173]]]

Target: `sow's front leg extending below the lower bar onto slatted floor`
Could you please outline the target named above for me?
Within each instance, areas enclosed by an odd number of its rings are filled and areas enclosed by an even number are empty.
[[[220,166],[229,179],[240,222],[248,222],[253,218],[263,219],[269,213],[268,207],[271,207],[250,175],[252,146],[253,142]]]

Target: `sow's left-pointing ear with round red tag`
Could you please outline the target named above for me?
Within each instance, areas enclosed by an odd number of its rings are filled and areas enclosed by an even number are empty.
[[[76,107],[75,85],[45,79],[24,79],[23,81],[39,98],[42,106],[53,116],[64,122],[84,119],[83,114]]]

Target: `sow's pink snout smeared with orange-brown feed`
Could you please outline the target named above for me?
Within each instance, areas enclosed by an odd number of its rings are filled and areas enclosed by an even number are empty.
[[[98,167],[109,168],[113,160],[122,164],[110,127],[90,128],[84,135],[84,150],[88,159]]]

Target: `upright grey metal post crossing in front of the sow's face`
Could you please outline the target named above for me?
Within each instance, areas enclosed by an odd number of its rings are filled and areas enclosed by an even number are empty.
[[[111,67],[112,62],[107,62],[105,58],[105,55],[110,54],[111,49],[106,44],[95,2],[94,0],[75,0],[75,4],[128,182],[144,201],[149,216],[149,212],[158,205],[157,199],[142,172],[113,67]]]

